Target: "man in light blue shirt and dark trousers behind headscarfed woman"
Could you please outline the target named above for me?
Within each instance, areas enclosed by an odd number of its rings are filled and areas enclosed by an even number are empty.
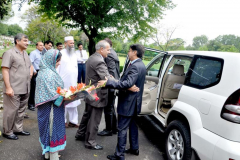
[[[28,99],[28,109],[34,111],[35,110],[35,88],[36,88],[36,78],[37,78],[37,72],[39,70],[39,64],[42,58],[42,51],[43,51],[43,43],[37,42],[36,49],[30,53],[30,60],[33,65],[33,77],[31,79],[31,90],[30,90],[30,96]]]

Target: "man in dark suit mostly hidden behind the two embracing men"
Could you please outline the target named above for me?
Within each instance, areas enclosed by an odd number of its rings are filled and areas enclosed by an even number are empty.
[[[105,58],[105,62],[108,67],[108,72],[112,75],[115,79],[120,78],[120,71],[119,71],[119,59],[117,53],[112,49],[112,41],[109,38],[105,38],[110,44],[110,54]],[[98,132],[99,136],[112,136],[112,134],[117,133],[117,116],[114,109],[114,103],[116,96],[114,95],[115,90],[109,89],[108,90],[108,104],[104,107],[104,116],[105,116],[105,124],[106,128]]]

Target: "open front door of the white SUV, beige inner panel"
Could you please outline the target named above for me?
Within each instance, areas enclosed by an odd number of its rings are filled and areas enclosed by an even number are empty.
[[[158,103],[159,80],[167,54],[167,52],[160,50],[145,48],[143,62],[147,63],[147,60],[150,60],[150,62],[146,65],[147,75],[144,83],[140,113],[142,115],[151,114],[156,108],[156,104]],[[152,59],[151,57],[154,58]]]

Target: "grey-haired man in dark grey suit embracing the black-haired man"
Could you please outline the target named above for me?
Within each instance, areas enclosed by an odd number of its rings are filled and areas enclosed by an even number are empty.
[[[104,58],[110,53],[110,45],[107,41],[99,41],[96,44],[96,53],[89,57],[86,62],[86,84],[96,84],[99,80],[108,77],[107,65]],[[96,143],[98,126],[102,117],[103,108],[108,103],[108,89],[101,88],[97,91],[98,101],[86,100],[86,108],[82,121],[76,133],[76,140],[85,139],[85,147],[88,149],[102,150],[103,147]]]

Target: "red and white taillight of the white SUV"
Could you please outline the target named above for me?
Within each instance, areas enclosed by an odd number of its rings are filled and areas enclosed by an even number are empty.
[[[240,89],[226,100],[221,117],[230,122],[240,124]]]

